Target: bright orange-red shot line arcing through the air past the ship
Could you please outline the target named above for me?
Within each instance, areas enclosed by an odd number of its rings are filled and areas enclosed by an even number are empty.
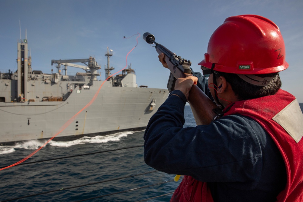
[[[123,69],[121,69],[120,71],[117,71],[115,74],[110,75],[108,78],[105,79],[105,81],[107,81],[107,80],[108,80],[109,78],[111,78],[112,76],[118,74],[119,72],[123,71],[123,70],[127,67],[127,65],[128,65],[128,63],[127,63],[127,57],[128,57],[128,55],[129,55],[129,53],[131,53],[132,50],[134,50],[134,48],[138,45],[138,38],[140,37],[139,32],[137,33],[137,35],[138,35],[138,36],[136,37],[137,44],[136,44],[136,45],[127,53],[127,55],[126,55],[126,65],[125,65],[125,67],[124,67]],[[97,96],[98,96],[98,94],[99,94],[99,91],[100,91],[101,87],[103,86],[103,84],[105,83],[105,81],[103,81],[103,83],[102,83],[101,86],[99,87],[98,91],[95,93],[95,95],[94,95],[94,97],[92,98],[92,100],[89,101],[88,104],[86,104],[86,105],[85,105],[80,111],[78,111],[78,113],[76,113],[72,118],[70,118],[68,121],[66,121],[66,123],[58,130],[58,132],[57,132],[53,137],[51,137],[48,141],[46,141],[45,144],[43,144],[41,147],[39,147],[38,149],[36,149],[35,151],[33,151],[31,154],[29,154],[27,157],[23,158],[22,160],[20,160],[20,161],[14,163],[14,164],[12,164],[12,165],[10,165],[10,166],[1,168],[0,171],[4,170],[4,169],[6,169],[6,168],[9,168],[9,167],[13,167],[13,166],[15,166],[15,165],[18,165],[18,164],[20,164],[20,163],[26,161],[27,159],[29,159],[30,157],[32,157],[35,153],[37,153],[40,149],[42,149],[42,147],[44,147],[46,144],[48,144],[50,141],[52,141],[52,139],[54,139],[58,134],[60,134],[62,131],[64,131],[65,128],[67,128],[83,110],[85,110],[86,108],[88,108],[88,107],[96,100],[96,98],[97,98]]]

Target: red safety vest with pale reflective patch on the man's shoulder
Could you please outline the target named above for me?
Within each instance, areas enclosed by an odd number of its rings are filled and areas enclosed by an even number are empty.
[[[268,132],[283,157],[287,174],[286,187],[278,194],[277,201],[303,201],[303,140],[300,141],[303,135],[303,115],[295,97],[280,89],[275,95],[236,101],[228,105],[224,112],[224,116],[241,114],[250,117]],[[291,125],[292,122],[295,124]],[[184,176],[170,201],[214,200],[207,183]]]

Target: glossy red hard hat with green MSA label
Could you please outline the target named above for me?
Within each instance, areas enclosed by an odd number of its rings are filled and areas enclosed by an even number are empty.
[[[285,45],[275,23],[258,15],[226,18],[211,35],[198,65],[233,74],[269,74],[288,68]]]

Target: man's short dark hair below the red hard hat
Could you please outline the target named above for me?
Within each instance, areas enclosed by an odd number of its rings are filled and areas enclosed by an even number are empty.
[[[282,85],[279,73],[256,75],[262,78],[275,77],[276,75],[278,75],[278,78],[273,84],[269,86],[256,86],[244,81],[236,74],[215,71],[216,78],[219,78],[220,76],[225,77],[239,100],[248,100],[276,94]]]

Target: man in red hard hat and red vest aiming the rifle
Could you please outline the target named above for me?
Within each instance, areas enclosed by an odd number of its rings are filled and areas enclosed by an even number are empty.
[[[288,63],[278,26],[258,15],[229,17],[198,65],[204,77],[177,79],[144,135],[146,164],[185,175],[171,201],[303,201],[303,114],[280,89]],[[195,84],[224,115],[183,128]]]

